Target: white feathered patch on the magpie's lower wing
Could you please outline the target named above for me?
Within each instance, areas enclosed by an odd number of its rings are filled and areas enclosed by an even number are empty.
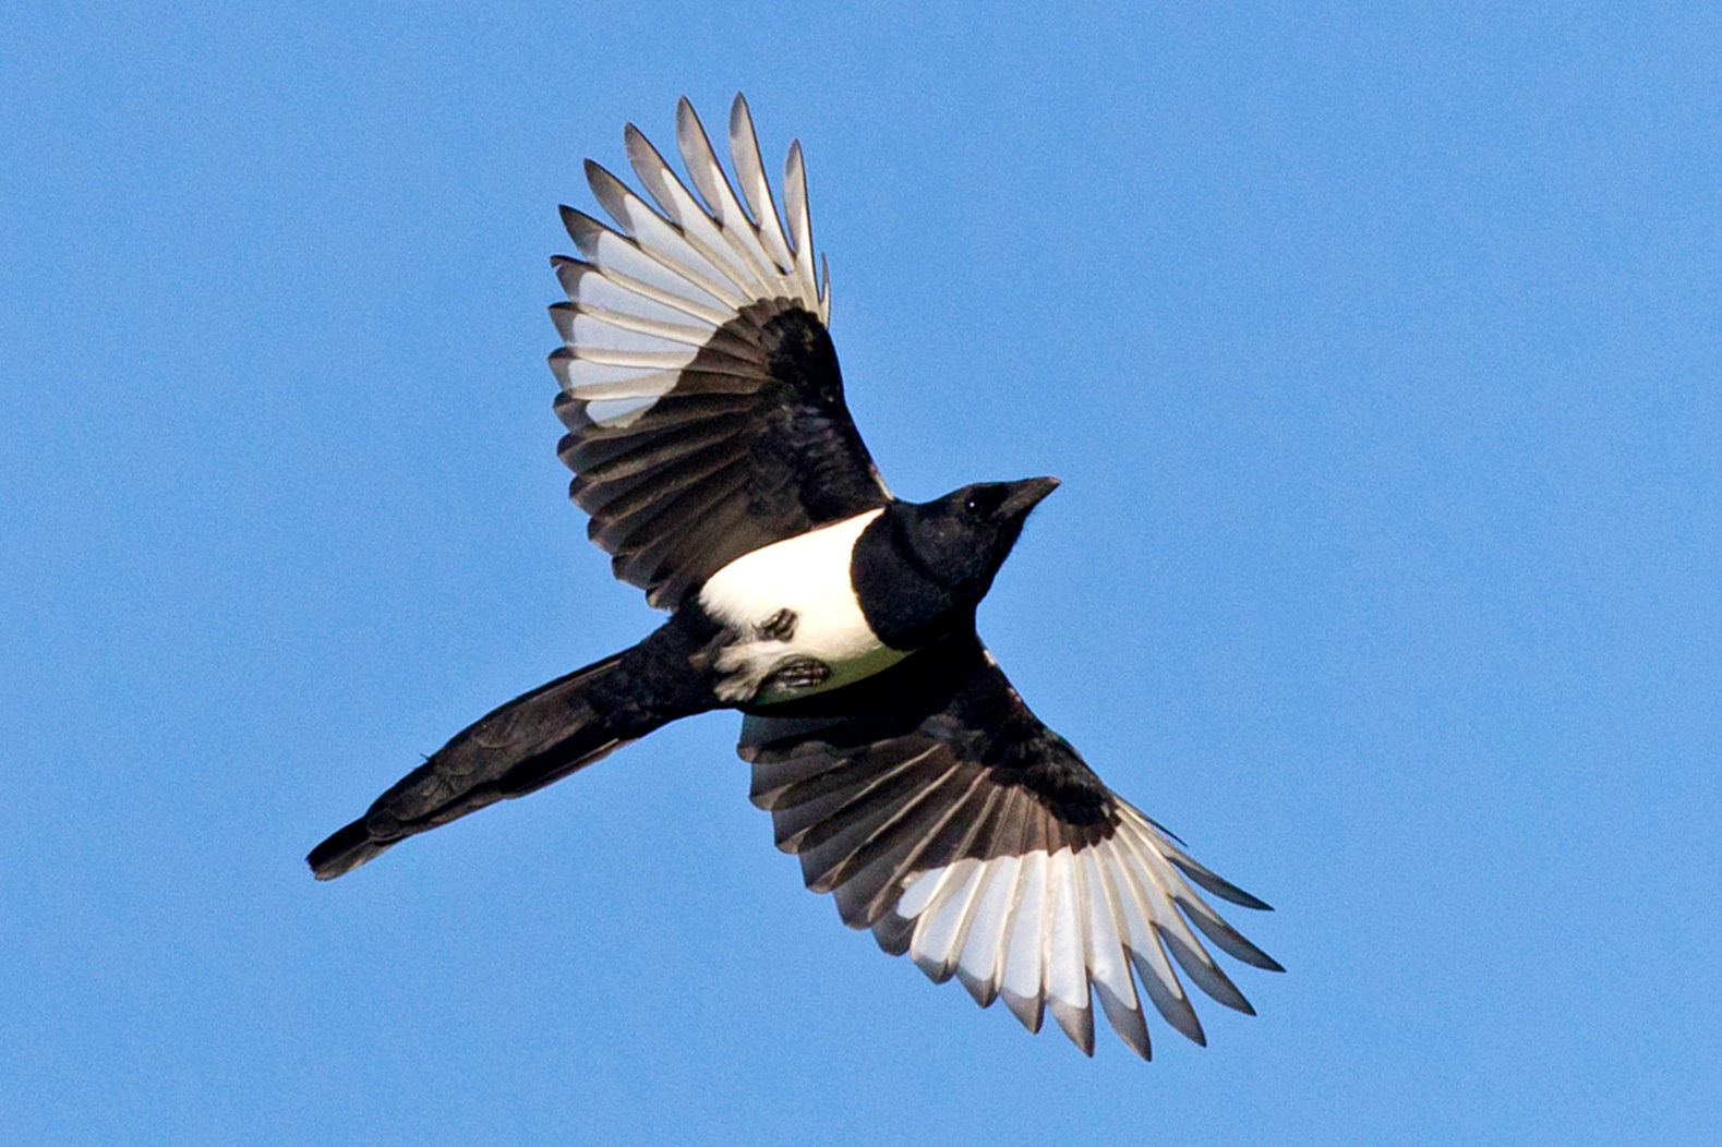
[[[916,873],[880,927],[911,928],[909,958],[928,976],[956,975],[982,1008],[1002,997],[1030,1032],[1050,1009],[1085,1052],[1093,1052],[1092,987],[1119,1038],[1149,1054],[1131,970],[1166,1021],[1205,1044],[1174,964],[1221,1004],[1255,1009],[1190,923],[1245,963],[1279,964],[1200,897],[1181,871],[1195,861],[1168,832],[1124,803],[1119,813],[1114,835],[1080,852],[959,859]]]

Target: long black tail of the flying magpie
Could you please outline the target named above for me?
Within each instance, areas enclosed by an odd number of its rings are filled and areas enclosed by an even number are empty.
[[[653,656],[666,653],[653,649],[663,636],[660,630],[634,649],[539,685],[468,725],[377,797],[369,813],[312,849],[305,858],[312,873],[332,880],[410,835],[542,789],[677,716],[708,708],[653,704],[661,699],[653,684],[661,682],[649,677],[673,670],[673,660]]]

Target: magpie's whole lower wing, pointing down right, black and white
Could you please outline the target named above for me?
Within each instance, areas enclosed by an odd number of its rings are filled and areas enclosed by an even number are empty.
[[[1131,980],[1178,1032],[1202,1025],[1176,968],[1254,1014],[1202,946],[1279,971],[1202,899],[1248,892],[1193,861],[1028,711],[973,634],[742,725],[753,801],[801,856],[844,923],[956,975],[983,1008],[1004,997],[1028,1026],[1044,1009],[1093,1054],[1090,985],[1118,1035],[1149,1057]],[[1193,928],[1192,928],[1193,925]]]

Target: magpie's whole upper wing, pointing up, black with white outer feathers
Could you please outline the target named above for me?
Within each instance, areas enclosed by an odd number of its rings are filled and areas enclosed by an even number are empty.
[[[616,577],[672,608],[744,553],[890,501],[844,405],[801,145],[784,170],[785,232],[740,96],[740,198],[687,100],[677,143],[699,200],[632,124],[651,205],[587,160],[616,227],[563,208],[584,258],[553,260],[568,301],[551,307],[563,346],[549,356],[568,427],[558,453],[589,534]]]

